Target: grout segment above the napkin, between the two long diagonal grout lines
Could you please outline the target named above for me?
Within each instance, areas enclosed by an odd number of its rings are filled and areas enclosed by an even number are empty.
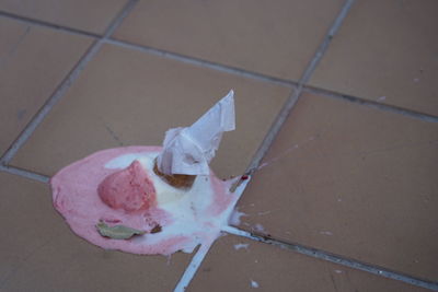
[[[279,84],[279,85],[284,85],[284,86],[288,86],[288,87],[291,87],[295,84],[297,84],[297,82],[293,82],[290,80],[265,75],[262,73],[256,73],[256,72],[247,71],[244,69],[240,69],[240,68],[235,68],[235,67],[231,67],[231,66],[227,66],[227,65],[221,65],[221,63],[217,63],[217,62],[212,62],[212,61],[208,61],[208,60],[193,58],[193,57],[188,57],[188,56],[176,54],[176,52],[171,52],[171,51],[163,50],[163,49],[148,47],[145,45],[130,44],[130,43],[122,42],[122,40],[114,39],[114,38],[105,39],[105,43],[115,45],[115,46],[125,47],[128,49],[139,50],[142,52],[147,52],[147,54],[151,54],[151,55],[155,55],[155,56],[160,56],[160,57],[164,57],[164,58],[172,59],[172,60],[177,60],[177,61],[189,63],[189,65],[195,65],[195,66],[203,67],[203,68],[212,69],[212,70],[224,72],[224,73],[230,73],[230,74],[240,75],[240,77],[244,77],[244,78],[255,79],[258,81],[270,82],[274,84]]]

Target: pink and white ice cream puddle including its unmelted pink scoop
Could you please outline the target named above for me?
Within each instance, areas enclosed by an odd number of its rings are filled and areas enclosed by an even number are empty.
[[[196,212],[188,208],[187,212],[193,212],[191,215],[196,220],[186,222],[185,214],[181,217],[158,203],[154,174],[137,159],[125,166],[106,166],[124,155],[141,157],[161,150],[160,147],[108,149],[68,165],[50,179],[55,208],[76,234],[105,249],[170,255],[177,250],[189,253],[196,245],[216,238],[238,198],[228,191],[230,182],[221,182],[211,172],[206,183],[211,189],[211,200]],[[206,182],[207,178],[199,179]],[[141,230],[146,234],[123,241],[103,237],[95,227],[100,221]],[[157,225],[162,231],[152,234]]]

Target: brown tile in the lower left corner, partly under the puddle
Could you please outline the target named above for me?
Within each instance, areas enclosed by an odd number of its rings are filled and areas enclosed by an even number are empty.
[[[47,185],[0,173],[1,291],[172,291],[191,255],[104,250],[70,232]]]

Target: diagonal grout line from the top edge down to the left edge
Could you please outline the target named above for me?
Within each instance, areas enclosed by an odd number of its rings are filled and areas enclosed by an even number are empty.
[[[44,106],[38,110],[38,113],[33,117],[33,119],[26,125],[19,138],[12,143],[4,155],[0,160],[0,164],[8,164],[20,148],[27,141],[31,135],[35,131],[38,125],[44,120],[51,108],[62,98],[67,90],[71,84],[79,78],[80,73],[85,68],[87,63],[96,55],[101,46],[104,44],[105,38],[108,38],[111,34],[117,28],[126,15],[130,12],[137,0],[130,0],[123,10],[117,14],[117,16],[112,21],[110,26],[106,28],[105,34],[102,38],[96,39],[88,51],[82,56],[77,66],[70,71],[70,73],[64,79],[60,85],[56,89],[55,93],[47,100]]]

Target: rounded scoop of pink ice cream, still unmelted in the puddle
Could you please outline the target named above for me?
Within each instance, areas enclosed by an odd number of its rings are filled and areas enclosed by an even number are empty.
[[[111,208],[127,212],[157,206],[153,183],[138,161],[105,177],[97,187],[97,194]]]

